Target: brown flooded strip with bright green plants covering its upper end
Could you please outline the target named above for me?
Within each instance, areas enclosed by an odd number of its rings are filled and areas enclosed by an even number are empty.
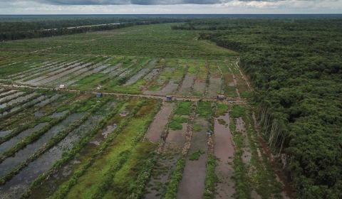
[[[177,162],[182,158],[182,149],[187,141],[187,133],[191,129],[190,115],[193,113],[191,102],[179,102],[170,115],[165,132],[161,134],[162,146],[147,183],[145,198],[164,198],[172,173]]]

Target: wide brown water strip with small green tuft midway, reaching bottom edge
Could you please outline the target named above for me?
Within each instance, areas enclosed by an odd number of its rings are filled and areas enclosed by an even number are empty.
[[[207,159],[207,128],[208,122],[205,119],[197,118],[194,125],[201,128],[200,131],[192,132],[191,146],[188,154],[196,151],[203,151],[198,160],[191,161],[187,158],[182,175],[182,181],[178,186],[177,198],[197,199],[202,198],[204,193],[205,168]]]

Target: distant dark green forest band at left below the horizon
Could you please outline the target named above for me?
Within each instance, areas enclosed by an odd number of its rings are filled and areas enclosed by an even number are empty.
[[[56,18],[31,18],[31,20],[14,21],[0,18],[0,41],[10,41],[23,38],[40,38],[49,36],[61,36],[88,31],[107,31],[115,28],[123,28],[133,25],[170,23],[185,21],[182,18],[119,18],[119,17],[56,17]],[[110,24],[120,23],[120,24]],[[92,26],[103,24],[102,26]],[[77,26],[87,26],[70,28]]]

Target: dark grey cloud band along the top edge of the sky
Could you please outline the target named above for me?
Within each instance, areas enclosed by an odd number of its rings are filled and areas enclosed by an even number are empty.
[[[174,5],[174,4],[221,4],[231,0],[36,0],[47,4],[57,5]],[[252,0],[239,0],[252,1]],[[265,1],[265,0],[254,0]],[[282,1],[282,0],[266,0]]]

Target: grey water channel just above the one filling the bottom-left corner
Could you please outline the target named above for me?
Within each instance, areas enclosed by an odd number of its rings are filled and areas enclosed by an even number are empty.
[[[6,175],[6,173],[11,171],[11,169],[13,169],[15,166],[18,166],[19,163],[25,161],[26,158],[28,158],[29,156],[32,156],[34,152],[36,152],[39,148],[41,148],[44,144],[46,144],[48,140],[50,140],[53,136],[56,136],[59,131],[66,129],[70,124],[75,122],[77,119],[80,119],[83,116],[83,114],[84,113],[71,114],[62,122],[56,124],[50,130],[48,130],[37,141],[31,144],[28,144],[24,149],[21,149],[20,151],[16,152],[14,156],[6,158],[0,164],[0,176],[2,177]],[[0,188],[0,193],[1,193],[1,188]]]

